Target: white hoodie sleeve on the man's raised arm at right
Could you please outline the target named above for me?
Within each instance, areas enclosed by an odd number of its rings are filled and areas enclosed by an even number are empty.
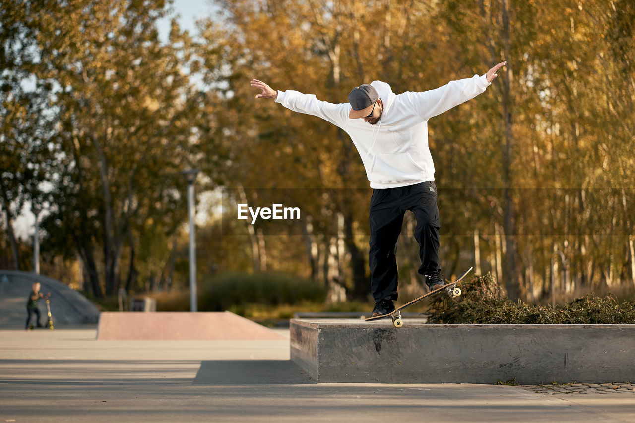
[[[415,112],[421,119],[427,121],[432,116],[437,116],[483,93],[490,84],[485,75],[474,75],[471,78],[451,81],[435,90],[419,93],[406,92],[401,95],[405,95]]]

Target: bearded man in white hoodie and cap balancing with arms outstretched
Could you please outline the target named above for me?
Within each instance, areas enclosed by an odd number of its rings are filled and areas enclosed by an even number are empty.
[[[394,311],[397,299],[396,246],[406,210],[415,214],[425,283],[433,290],[444,285],[439,251],[439,210],[434,163],[428,146],[427,121],[455,105],[483,93],[497,77],[492,67],[483,76],[451,81],[436,90],[392,92],[389,84],[373,81],[353,88],[349,102],[332,104],[312,94],[276,91],[258,79],[250,85],[262,90],[256,98],[274,98],[292,111],[319,116],[342,128],[358,149],[370,181],[371,316]]]

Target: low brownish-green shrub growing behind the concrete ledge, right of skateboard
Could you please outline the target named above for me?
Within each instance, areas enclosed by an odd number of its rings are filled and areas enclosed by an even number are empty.
[[[552,309],[508,299],[490,273],[462,284],[462,295],[436,295],[429,323],[600,324],[635,323],[632,302],[619,303],[614,295],[589,294]]]

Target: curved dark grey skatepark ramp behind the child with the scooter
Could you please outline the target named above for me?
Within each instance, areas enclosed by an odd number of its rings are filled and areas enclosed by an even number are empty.
[[[24,327],[27,299],[35,282],[41,284],[40,292],[51,293],[51,314],[56,326],[97,323],[97,307],[64,283],[32,272],[0,270],[0,326]],[[43,302],[39,308],[46,316]]]

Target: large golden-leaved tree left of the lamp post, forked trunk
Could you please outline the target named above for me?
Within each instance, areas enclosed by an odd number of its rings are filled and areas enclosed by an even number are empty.
[[[32,72],[52,87],[50,107],[58,114],[53,140],[60,151],[50,158],[58,180],[43,225],[59,235],[58,246],[76,248],[96,295],[99,254],[105,293],[112,294],[135,224],[173,222],[184,213],[177,207],[185,185],[179,171],[197,142],[192,123],[199,103],[189,80],[196,69],[188,69],[191,42],[178,25],[168,44],[159,41],[156,20],[164,6],[29,2],[20,17],[36,49]],[[163,227],[175,231],[176,225]]]

